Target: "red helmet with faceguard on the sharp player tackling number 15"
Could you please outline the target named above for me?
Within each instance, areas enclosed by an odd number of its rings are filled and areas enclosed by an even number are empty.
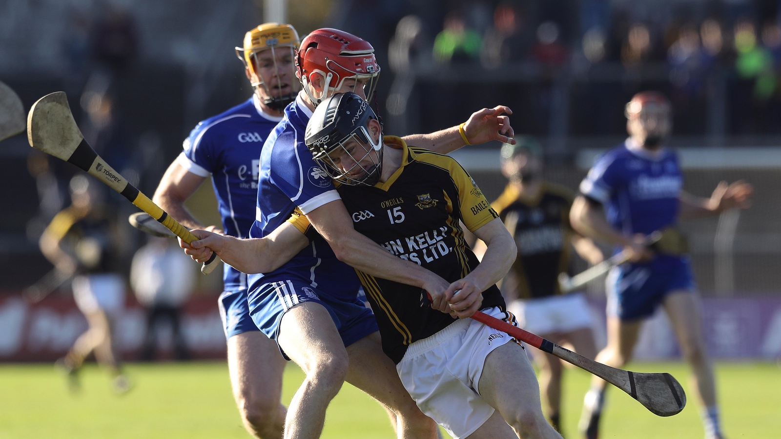
[[[318,29],[308,34],[301,41],[296,67],[296,76],[315,105],[339,90],[346,79],[354,79],[356,87],[362,82],[364,98],[369,99],[380,77],[372,45],[337,29]],[[323,91],[319,96],[312,87],[314,73],[323,77]]]

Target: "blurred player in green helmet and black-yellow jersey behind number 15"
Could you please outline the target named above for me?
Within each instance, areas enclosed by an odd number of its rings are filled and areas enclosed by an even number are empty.
[[[492,203],[518,247],[501,285],[507,309],[523,329],[555,344],[571,344],[580,355],[594,359],[597,348],[586,298],[580,292],[562,294],[557,278],[572,268],[573,247],[591,264],[602,261],[602,252],[569,225],[575,194],[543,180],[540,144],[531,137],[515,137],[515,141],[501,148],[501,171],[509,183]],[[561,431],[562,360],[537,349],[532,352],[540,366],[548,418]]]

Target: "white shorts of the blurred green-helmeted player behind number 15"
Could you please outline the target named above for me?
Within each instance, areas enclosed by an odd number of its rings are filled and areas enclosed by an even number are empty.
[[[592,324],[583,293],[516,300],[507,305],[507,310],[517,316],[523,329],[537,335],[590,329]]]

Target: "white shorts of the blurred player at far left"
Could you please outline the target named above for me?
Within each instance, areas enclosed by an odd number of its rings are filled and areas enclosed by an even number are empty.
[[[116,314],[125,306],[125,283],[116,273],[77,276],[73,278],[73,299],[81,312],[102,309]]]

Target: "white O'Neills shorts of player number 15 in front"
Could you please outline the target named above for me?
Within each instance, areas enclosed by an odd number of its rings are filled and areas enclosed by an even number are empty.
[[[498,308],[483,312],[517,326]],[[459,319],[437,334],[410,344],[396,370],[421,412],[455,439],[467,437],[494,414],[494,408],[480,398],[477,387],[483,363],[491,351],[513,340],[476,320]]]

